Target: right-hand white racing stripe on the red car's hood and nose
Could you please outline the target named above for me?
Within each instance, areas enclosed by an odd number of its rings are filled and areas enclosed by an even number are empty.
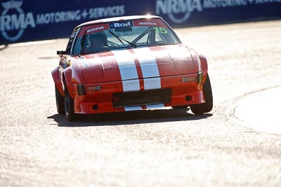
[[[141,64],[145,90],[161,88],[158,66],[150,48],[136,48],[133,51]]]

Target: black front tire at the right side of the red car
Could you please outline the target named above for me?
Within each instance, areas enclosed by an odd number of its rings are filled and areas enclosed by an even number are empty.
[[[209,75],[207,74],[207,79],[203,84],[203,91],[205,96],[205,103],[202,104],[192,104],[190,109],[194,114],[207,113],[213,109],[213,93],[211,91],[211,81]]]

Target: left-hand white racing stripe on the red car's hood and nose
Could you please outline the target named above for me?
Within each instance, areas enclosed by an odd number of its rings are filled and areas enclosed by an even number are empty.
[[[118,63],[124,92],[141,90],[133,55],[129,50],[112,50],[112,53]]]

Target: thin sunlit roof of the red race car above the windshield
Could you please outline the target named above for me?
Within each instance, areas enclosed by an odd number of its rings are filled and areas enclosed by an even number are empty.
[[[93,25],[97,23],[105,23],[105,22],[118,22],[118,21],[124,21],[124,20],[139,20],[139,19],[151,19],[151,18],[161,18],[157,15],[130,15],[130,16],[122,16],[122,17],[115,17],[115,18],[105,18],[101,20],[93,20],[90,22],[84,22],[81,25],[78,25],[75,27],[77,29],[78,27],[85,26],[85,25]]]

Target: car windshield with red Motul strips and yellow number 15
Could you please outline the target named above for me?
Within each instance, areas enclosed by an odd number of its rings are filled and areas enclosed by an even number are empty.
[[[181,43],[161,19],[126,20],[81,27],[71,54]]]

